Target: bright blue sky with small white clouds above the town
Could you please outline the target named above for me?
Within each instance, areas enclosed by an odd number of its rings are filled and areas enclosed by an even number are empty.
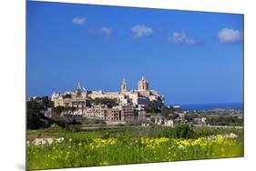
[[[118,91],[169,105],[243,101],[243,15],[27,2],[26,93]]]

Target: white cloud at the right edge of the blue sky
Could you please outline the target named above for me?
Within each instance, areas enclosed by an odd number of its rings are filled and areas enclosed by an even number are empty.
[[[240,30],[223,28],[218,33],[218,38],[220,40],[220,43],[223,44],[238,43],[242,41],[243,34]]]

